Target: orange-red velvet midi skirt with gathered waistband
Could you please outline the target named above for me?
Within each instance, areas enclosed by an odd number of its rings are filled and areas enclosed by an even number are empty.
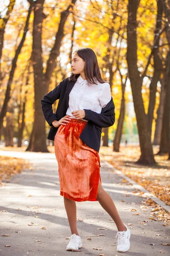
[[[99,180],[102,183],[98,151],[79,139],[86,124],[72,118],[66,125],[59,125],[54,139],[60,195],[79,202],[98,201]]]

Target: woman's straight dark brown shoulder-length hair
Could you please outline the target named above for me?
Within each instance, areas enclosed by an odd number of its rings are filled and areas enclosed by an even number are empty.
[[[106,82],[101,77],[96,54],[91,48],[81,47],[75,50],[73,54],[74,53],[77,53],[77,55],[79,55],[79,57],[85,61],[85,78],[88,85],[97,84],[96,80],[99,81],[99,83],[101,84]],[[79,76],[80,74],[74,74],[72,72],[69,80],[76,82]]]

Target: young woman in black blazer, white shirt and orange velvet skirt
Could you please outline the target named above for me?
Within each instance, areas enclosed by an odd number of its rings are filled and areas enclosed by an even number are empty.
[[[117,251],[125,252],[130,248],[130,230],[103,189],[99,172],[102,127],[115,121],[110,85],[102,80],[96,54],[90,48],[74,51],[71,67],[71,76],[41,100],[45,119],[51,125],[48,139],[54,140],[60,195],[72,233],[66,250],[82,247],[76,201],[99,201],[118,229]],[[53,113],[52,104],[57,99],[57,111]]]

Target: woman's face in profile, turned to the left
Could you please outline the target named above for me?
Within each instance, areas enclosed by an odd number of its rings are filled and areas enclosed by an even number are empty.
[[[71,68],[72,68],[74,74],[84,73],[85,61],[79,57],[77,52],[75,52],[72,57]]]

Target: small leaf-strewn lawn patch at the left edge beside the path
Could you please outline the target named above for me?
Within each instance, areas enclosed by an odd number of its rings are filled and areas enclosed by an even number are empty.
[[[29,162],[17,157],[0,156],[0,186],[2,181],[30,168]]]

